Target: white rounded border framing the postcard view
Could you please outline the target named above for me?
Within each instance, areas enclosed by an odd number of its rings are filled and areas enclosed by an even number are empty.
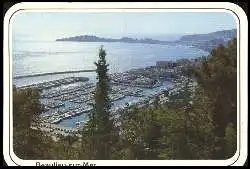
[[[9,25],[9,20],[13,20],[12,14],[15,13],[16,11],[20,9],[25,9],[25,10],[34,10],[34,8],[39,8],[39,11],[63,11],[63,12],[69,12],[69,11],[76,11],[76,12],[96,12],[96,11],[114,11],[114,12],[140,12],[140,11],[151,11],[151,12],[157,12],[157,11],[181,11],[181,12],[229,12],[232,15],[235,16],[235,14],[239,17],[240,23],[238,23],[237,26],[237,34],[238,34],[238,54],[237,57],[239,59],[239,52],[240,52],[240,63],[238,62],[238,75],[240,75],[237,78],[237,86],[238,86],[238,92],[237,96],[239,94],[241,95],[240,101],[237,99],[237,108],[238,108],[238,117],[239,117],[239,107],[240,107],[240,120],[238,118],[238,143],[239,143],[239,133],[240,133],[240,149],[239,147],[237,148],[236,154],[228,159],[228,160],[111,160],[111,161],[104,161],[104,160],[84,160],[85,162],[88,161],[89,163],[94,163],[96,165],[102,165],[102,166],[126,166],[126,165],[134,165],[134,166],[161,166],[161,165],[180,165],[180,166],[189,166],[189,165],[212,165],[212,166],[222,166],[222,165],[243,165],[246,161],[247,158],[247,138],[248,138],[248,133],[247,133],[247,124],[248,124],[248,107],[247,107],[247,63],[248,63],[248,21],[245,12],[237,5],[233,3],[228,3],[228,2],[202,2],[202,3],[197,3],[197,2],[133,2],[133,3],[127,3],[127,2],[119,2],[119,3],[111,3],[111,2],[65,2],[65,3],[40,3],[40,2],[30,2],[30,3],[18,3],[14,6],[12,6],[7,13],[5,14],[4,17],[4,107],[3,107],[3,112],[4,112],[4,126],[3,126],[3,153],[4,153],[4,159],[6,163],[10,166],[15,166],[15,165],[28,165],[28,166],[35,166],[36,162],[41,162],[41,163],[53,163],[53,162],[58,162],[58,163],[65,163],[65,164],[73,164],[73,163],[82,163],[83,160],[21,160],[19,159],[12,151],[12,146],[11,146],[11,152],[9,152],[9,145],[12,145],[12,132],[9,132],[9,125],[11,126],[12,129],[12,120],[9,121],[9,118],[12,119],[12,108],[9,109],[9,99],[12,99],[12,90],[10,91],[10,84],[12,84],[12,73],[9,76],[9,65],[12,65],[8,62],[9,59],[9,52],[11,55],[11,41],[9,42],[9,37],[8,35],[11,33],[9,32],[9,28],[11,27],[11,24]],[[82,9],[80,9],[82,8]],[[110,9],[103,9],[103,8],[110,8]],[[116,9],[116,8],[123,8],[123,9]],[[132,9],[124,9],[124,8],[132,8]],[[140,8],[140,9],[138,9]],[[148,9],[148,8],[179,8],[177,9]],[[188,8],[202,8],[202,9],[188,9]],[[214,9],[206,9],[206,8],[214,8]],[[219,8],[226,8],[228,10],[221,10]],[[231,12],[231,11],[233,12]],[[38,10],[36,10],[38,11]],[[10,27],[9,27],[10,26]],[[240,29],[239,29],[240,27]],[[11,29],[10,29],[11,30]],[[239,39],[240,37],[240,39]],[[12,39],[12,38],[10,38]],[[240,40],[240,41],[239,41]],[[241,46],[239,46],[239,42]],[[10,44],[10,46],[9,46]],[[240,47],[240,48],[239,48]],[[10,56],[11,57],[11,56]],[[10,58],[10,62],[12,62],[12,58]],[[240,68],[239,68],[240,64]],[[10,67],[12,69],[12,66]],[[11,71],[12,72],[12,71]],[[240,73],[239,73],[240,72]],[[240,85],[239,86],[239,82]],[[240,88],[240,93],[239,93],[239,88]],[[11,94],[9,95],[9,91]],[[244,92],[243,92],[244,91]],[[239,97],[238,97],[239,98]],[[239,131],[240,129],[240,131]],[[9,139],[11,138],[11,139]],[[11,143],[11,144],[10,144]],[[11,156],[9,156],[9,153]],[[240,153],[240,156],[239,156]],[[13,162],[14,160],[15,162]]]

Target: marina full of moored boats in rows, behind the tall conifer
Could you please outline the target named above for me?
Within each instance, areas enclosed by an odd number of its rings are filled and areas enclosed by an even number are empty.
[[[108,76],[110,112],[115,119],[119,117],[119,112],[129,107],[153,105],[156,97],[160,99],[159,104],[169,101],[168,97],[178,94],[188,80],[176,67],[151,66]],[[31,87],[40,91],[40,101],[43,105],[40,125],[62,126],[75,131],[84,127],[89,113],[93,110],[95,86],[96,81],[89,80],[88,77],[73,76],[21,86],[19,89]],[[43,125],[43,128],[46,127]],[[64,135],[70,133],[65,131],[67,130],[63,130]]]

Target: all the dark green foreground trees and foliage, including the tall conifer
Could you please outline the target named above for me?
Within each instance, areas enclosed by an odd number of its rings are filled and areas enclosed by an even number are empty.
[[[60,137],[30,128],[42,106],[34,89],[13,90],[14,152],[21,159],[227,159],[237,149],[237,41],[212,50],[186,74],[198,82],[151,107],[131,107],[114,120],[107,98],[106,52],[96,63],[95,111],[82,137]],[[191,83],[191,82],[190,82]],[[166,95],[168,93],[165,93]],[[120,125],[116,125],[120,122]]]

